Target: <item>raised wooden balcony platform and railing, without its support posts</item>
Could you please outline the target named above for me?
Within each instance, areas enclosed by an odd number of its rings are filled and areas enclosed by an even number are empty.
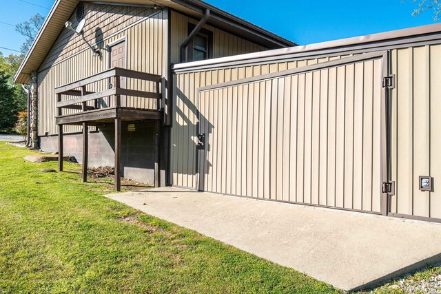
[[[155,92],[131,90],[121,87],[123,81],[131,79],[136,83],[154,85]],[[57,87],[57,125],[100,125],[113,123],[115,118],[123,121],[161,120],[161,76],[125,70],[114,67],[80,81]],[[93,92],[92,89],[101,88]],[[74,98],[70,98],[74,97]],[[136,107],[127,101],[130,98],[141,98],[149,101],[152,107]],[[104,103],[105,102],[105,103]],[[152,103],[153,102],[153,103]],[[77,112],[63,113],[63,109],[75,109]]]

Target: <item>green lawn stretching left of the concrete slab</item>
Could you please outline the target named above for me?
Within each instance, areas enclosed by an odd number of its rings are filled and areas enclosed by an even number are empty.
[[[329,284],[103,197],[78,165],[0,142],[0,293],[338,293]]]

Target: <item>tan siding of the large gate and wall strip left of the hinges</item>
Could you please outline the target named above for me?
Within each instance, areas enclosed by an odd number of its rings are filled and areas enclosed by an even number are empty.
[[[203,182],[193,185],[205,191],[380,213],[381,62],[339,65],[189,96],[198,106],[207,146],[198,153],[198,170],[196,160],[185,160],[193,168],[182,176],[199,173]],[[270,65],[269,71],[287,66]],[[217,80],[229,81],[230,71],[222,70],[223,78],[217,71]],[[246,67],[238,69],[238,77],[262,72],[263,67]],[[188,74],[178,78],[194,82]],[[185,95],[194,95],[193,89]],[[206,105],[215,106],[211,110]],[[364,107],[370,110],[366,121]],[[172,172],[174,185],[182,186],[189,182],[179,182],[179,150],[198,151],[196,143],[179,145],[174,140],[172,156],[178,162]],[[234,167],[232,158],[237,159]],[[214,172],[205,172],[205,166]],[[361,193],[363,184],[368,193]]]

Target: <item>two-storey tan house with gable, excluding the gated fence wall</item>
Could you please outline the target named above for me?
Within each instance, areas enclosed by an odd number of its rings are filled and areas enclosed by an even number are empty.
[[[118,3],[116,3],[118,2]],[[208,17],[204,19],[205,15]],[[77,28],[85,19],[83,34],[65,28],[65,21]],[[187,39],[198,23],[200,30]],[[183,42],[188,41],[183,47]],[[256,25],[227,14],[201,1],[72,1],[54,3],[48,19],[25,57],[16,76],[19,83],[30,83],[34,102],[32,112],[33,145],[45,151],[58,151],[59,125],[56,123],[57,94],[55,88],[98,74],[111,67],[155,74],[163,79],[164,89],[154,83],[125,78],[127,88],[146,92],[162,92],[161,105],[155,99],[126,96],[122,103],[136,109],[161,109],[161,185],[166,184],[167,154],[172,125],[172,64],[194,60],[196,48],[192,42],[203,41],[205,58],[217,58],[273,48],[285,48],[294,43],[271,34]],[[86,43],[87,41],[87,43]],[[88,43],[99,50],[95,56]],[[201,47],[201,46],[200,46]],[[204,48],[202,48],[204,49]],[[181,52],[184,56],[181,57]],[[195,51],[196,52],[196,51]],[[116,56],[114,55],[116,54]],[[183,58],[183,59],[181,59]],[[196,58],[196,57],[195,57]],[[87,85],[88,92],[104,90],[110,81]],[[162,84],[162,85],[161,85]],[[38,98],[37,98],[38,97]],[[72,98],[72,96],[63,96]],[[37,102],[38,101],[38,102]],[[110,102],[110,101],[109,101]],[[92,106],[91,103],[89,103]],[[66,105],[73,107],[73,105]],[[77,105],[79,106],[79,105]],[[101,98],[99,107],[105,106]],[[77,109],[63,109],[62,114],[73,114]],[[134,119],[135,120],[135,119]],[[130,121],[130,119],[129,119]],[[122,174],[127,178],[154,184],[154,165],[157,154],[157,119],[137,120],[134,132],[127,132],[123,120],[121,132]],[[114,165],[113,125],[90,126],[88,139],[89,166]],[[131,124],[132,125],[132,124]],[[63,151],[81,159],[83,154],[82,125],[63,126]],[[156,143],[155,143],[156,141]]]

